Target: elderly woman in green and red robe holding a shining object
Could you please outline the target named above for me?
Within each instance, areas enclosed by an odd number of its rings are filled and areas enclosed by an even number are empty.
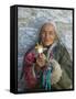
[[[43,51],[37,51],[37,47],[42,47]],[[26,90],[72,89],[70,56],[65,46],[59,43],[53,23],[43,24],[40,31],[40,43],[25,53],[23,63],[22,75]]]

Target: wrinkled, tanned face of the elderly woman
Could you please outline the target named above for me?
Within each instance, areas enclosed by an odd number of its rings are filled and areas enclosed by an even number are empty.
[[[53,24],[45,24],[41,30],[41,41],[44,46],[53,44],[55,40],[55,29]]]

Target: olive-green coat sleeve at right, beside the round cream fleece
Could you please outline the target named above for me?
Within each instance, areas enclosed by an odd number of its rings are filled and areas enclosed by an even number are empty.
[[[57,89],[69,89],[73,85],[73,65],[70,56],[65,47],[62,47],[58,64],[62,69],[62,77],[59,81],[54,85],[54,87],[56,87]]]

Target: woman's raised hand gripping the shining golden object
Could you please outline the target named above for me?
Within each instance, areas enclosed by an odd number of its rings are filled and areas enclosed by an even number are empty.
[[[39,56],[36,57],[36,65],[40,67],[43,67],[43,66],[45,66],[45,63],[46,63],[45,55],[43,53],[39,54]]]

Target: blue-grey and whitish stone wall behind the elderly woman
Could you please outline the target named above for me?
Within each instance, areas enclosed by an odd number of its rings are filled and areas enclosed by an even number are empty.
[[[72,57],[73,11],[61,9],[18,8],[18,81],[21,75],[23,56],[39,40],[40,29],[45,22],[56,23],[57,35]],[[19,90],[22,86],[19,85]]]

